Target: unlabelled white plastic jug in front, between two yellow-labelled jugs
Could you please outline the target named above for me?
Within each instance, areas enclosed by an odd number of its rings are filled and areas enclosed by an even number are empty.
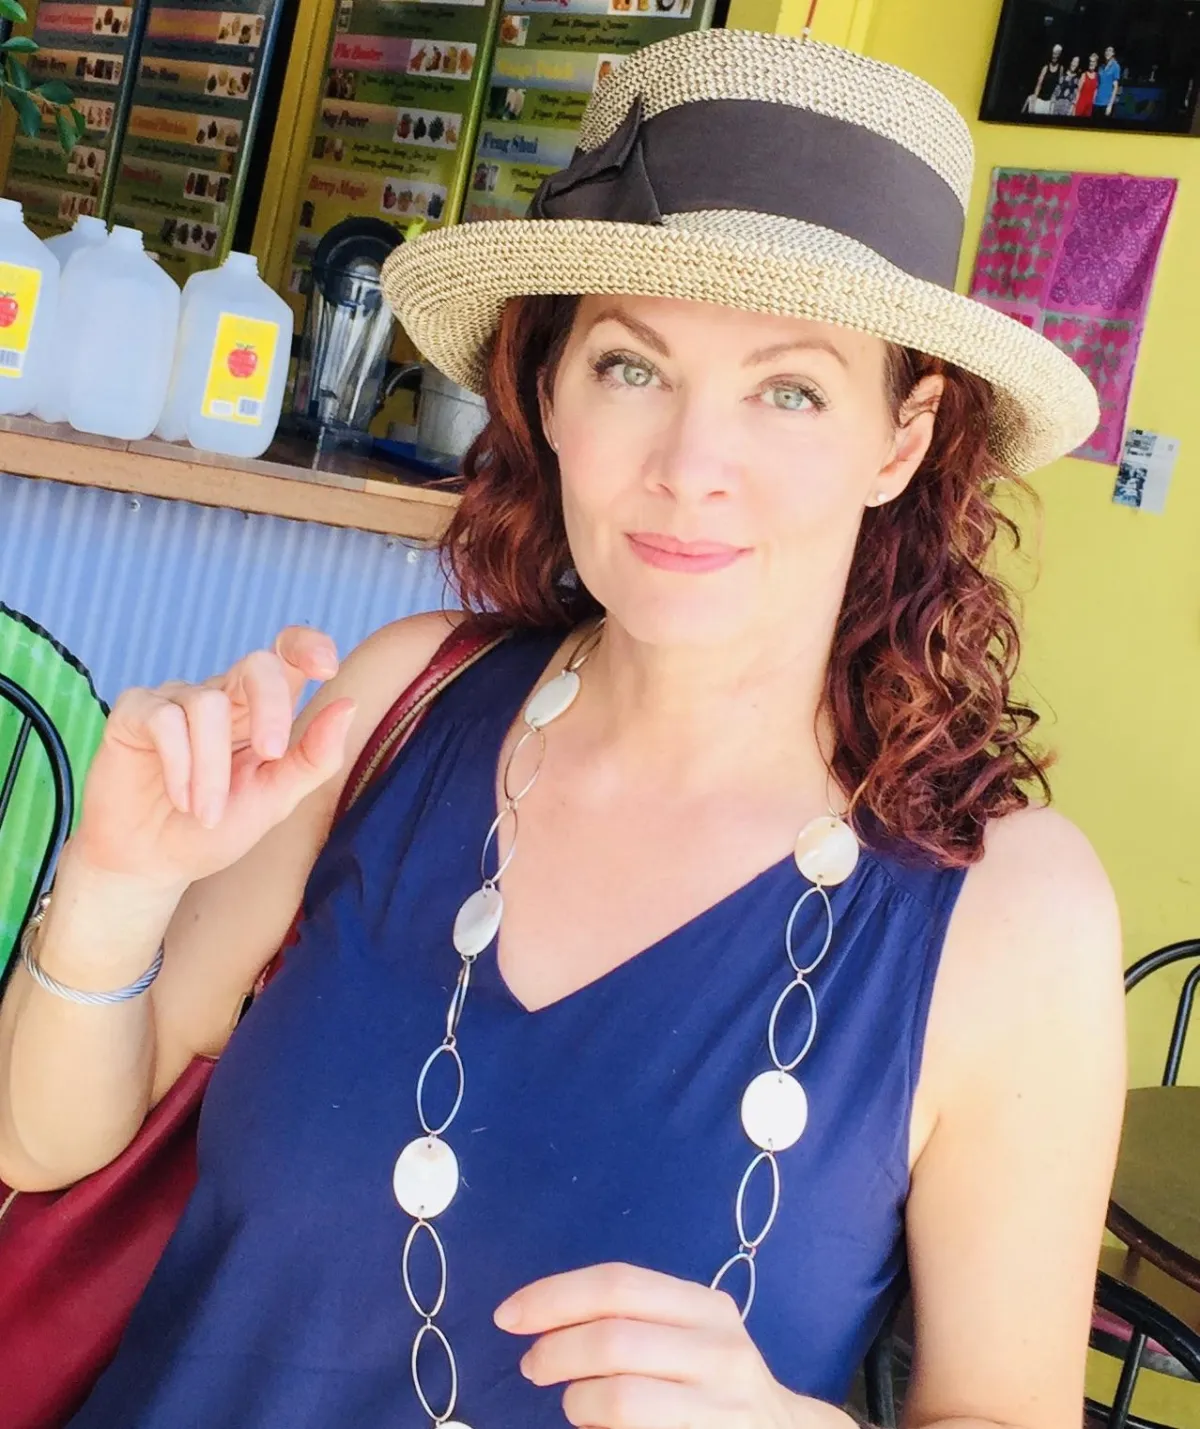
[[[63,276],[63,309],[74,334],[64,364],[67,420],[77,432],[150,436],[167,400],[179,304],[179,287],[137,229],[113,229],[76,253]]]

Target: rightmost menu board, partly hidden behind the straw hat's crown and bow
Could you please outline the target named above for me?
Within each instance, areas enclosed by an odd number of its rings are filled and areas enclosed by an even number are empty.
[[[633,50],[709,24],[713,0],[506,0],[463,219],[521,219],[566,169],[591,91]]]

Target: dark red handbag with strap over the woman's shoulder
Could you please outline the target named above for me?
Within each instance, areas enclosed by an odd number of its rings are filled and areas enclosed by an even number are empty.
[[[384,714],[354,763],[337,817],[391,763],[433,700],[503,640],[467,620]],[[259,992],[296,937],[259,979]],[[0,1420],[60,1429],[113,1358],[196,1185],[196,1126],[213,1070],[194,1057],[109,1166],[66,1190],[0,1183]]]

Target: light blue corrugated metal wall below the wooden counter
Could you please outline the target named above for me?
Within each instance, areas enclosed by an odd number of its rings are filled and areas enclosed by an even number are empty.
[[[436,557],[390,536],[0,474],[0,602],[109,703],[223,670],[284,624],[349,650],[444,599]]]

